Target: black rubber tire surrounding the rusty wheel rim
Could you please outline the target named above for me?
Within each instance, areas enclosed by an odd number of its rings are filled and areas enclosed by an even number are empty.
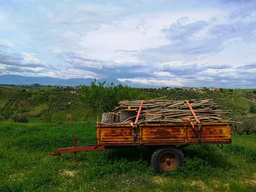
[[[166,171],[162,169],[159,163],[159,159],[161,155],[165,152],[171,152],[175,154],[178,160],[178,166],[182,166],[183,160],[184,160],[184,155],[180,149],[178,149],[176,146],[166,146],[166,147],[160,147],[157,148],[152,156],[151,156],[151,166],[156,170],[157,173],[168,173],[171,171]]]

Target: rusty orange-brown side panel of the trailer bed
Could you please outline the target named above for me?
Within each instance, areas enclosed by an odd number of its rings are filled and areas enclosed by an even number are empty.
[[[195,125],[196,127],[196,125]],[[231,143],[231,126],[227,122],[202,123],[202,144]],[[98,145],[133,145],[134,131],[128,125],[97,125]],[[136,145],[198,144],[198,132],[190,124],[138,125]]]

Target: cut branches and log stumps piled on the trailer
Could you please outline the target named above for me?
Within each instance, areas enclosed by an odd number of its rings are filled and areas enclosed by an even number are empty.
[[[166,96],[167,97],[167,96]],[[142,105],[138,123],[173,122],[184,123],[183,118],[195,118],[186,100],[167,100],[166,97],[145,100]],[[219,107],[212,99],[189,100],[198,120],[201,122],[221,122],[221,116],[229,114],[230,110],[218,110]],[[112,113],[102,114],[102,123],[120,124],[135,121],[141,100],[123,100]],[[228,119],[230,120],[230,119]]]

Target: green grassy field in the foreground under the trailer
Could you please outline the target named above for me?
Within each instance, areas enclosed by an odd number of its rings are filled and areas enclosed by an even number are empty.
[[[144,147],[49,156],[56,148],[96,143],[94,121],[55,125],[0,124],[0,191],[256,192],[256,135],[233,143],[189,146],[185,163],[156,175]]]

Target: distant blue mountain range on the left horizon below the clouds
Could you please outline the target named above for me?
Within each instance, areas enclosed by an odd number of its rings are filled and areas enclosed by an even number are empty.
[[[38,83],[41,85],[48,85],[48,84],[56,84],[61,86],[78,86],[78,85],[90,85],[91,82],[94,81],[93,78],[75,78],[75,79],[58,79],[52,77],[24,77],[24,76],[17,76],[17,75],[3,75],[0,76],[0,84],[34,84]],[[107,79],[97,79],[96,83],[106,81],[106,83],[114,83],[115,85],[122,84],[126,85],[125,83],[118,81],[118,79],[109,77]],[[128,84],[128,86],[131,86]]]

